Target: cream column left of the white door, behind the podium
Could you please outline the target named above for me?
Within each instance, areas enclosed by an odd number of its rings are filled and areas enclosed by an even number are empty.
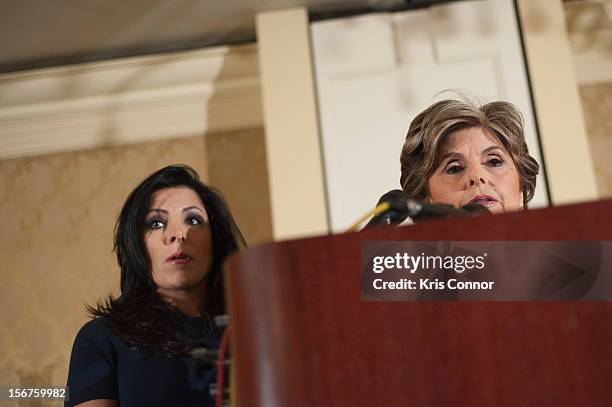
[[[256,26],[274,239],[327,233],[307,11],[258,13]]]

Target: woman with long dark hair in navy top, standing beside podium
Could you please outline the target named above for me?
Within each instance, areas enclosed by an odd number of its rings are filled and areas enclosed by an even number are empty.
[[[224,313],[223,260],[244,240],[221,197],[187,166],[155,172],[127,198],[115,227],[121,294],[91,308],[76,336],[66,406],[212,406]]]

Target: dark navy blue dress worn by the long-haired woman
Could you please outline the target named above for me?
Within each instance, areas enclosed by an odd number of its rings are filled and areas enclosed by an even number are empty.
[[[184,324],[194,347],[219,347],[218,336],[201,318],[186,319]],[[197,370],[190,355],[134,348],[103,318],[96,318],[74,340],[64,407],[95,399],[117,400],[121,407],[213,407],[209,385],[215,374],[215,369]]]

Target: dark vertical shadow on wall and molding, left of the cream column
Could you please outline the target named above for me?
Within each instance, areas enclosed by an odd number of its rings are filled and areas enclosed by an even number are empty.
[[[254,86],[234,90],[230,82],[244,76],[245,66],[257,68],[256,57],[254,53],[245,54],[236,49],[225,57],[215,79],[215,92],[207,105],[209,128],[215,130],[205,136],[209,183],[226,198],[251,246],[273,240],[265,133],[261,125],[252,125],[262,122],[261,90],[258,79]],[[255,74],[258,78],[258,69]],[[257,100],[257,103],[242,106],[240,100]],[[226,126],[222,123],[228,116],[244,120],[239,125],[241,128],[224,130]]]

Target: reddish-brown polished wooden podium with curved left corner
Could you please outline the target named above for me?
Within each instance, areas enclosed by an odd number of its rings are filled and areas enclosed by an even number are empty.
[[[612,201],[234,255],[235,406],[612,406],[612,302],[362,301],[369,240],[612,240]]]

